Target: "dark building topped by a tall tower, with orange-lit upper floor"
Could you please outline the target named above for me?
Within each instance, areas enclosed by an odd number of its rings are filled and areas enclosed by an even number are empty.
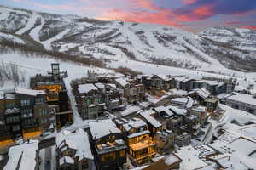
[[[58,63],[51,64],[49,75],[37,74],[30,79],[30,87],[35,90],[46,92],[48,105],[58,105],[58,112],[55,112],[56,126],[60,129],[67,124],[73,123],[73,113],[71,111],[67,89],[63,79],[67,77],[67,71],[60,71]]]

